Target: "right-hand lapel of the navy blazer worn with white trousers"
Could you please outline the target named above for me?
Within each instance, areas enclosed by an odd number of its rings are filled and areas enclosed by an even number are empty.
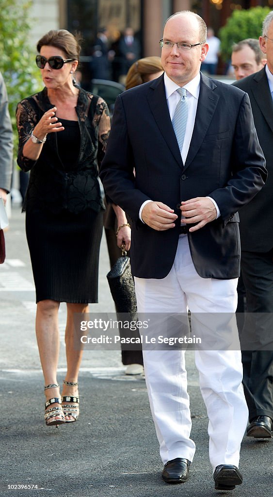
[[[185,168],[191,164],[198,153],[217,106],[219,96],[213,92],[214,88],[216,88],[216,84],[201,73],[195,125]]]

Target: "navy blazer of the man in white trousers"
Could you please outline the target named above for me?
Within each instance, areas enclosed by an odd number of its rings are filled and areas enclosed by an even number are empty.
[[[258,193],[267,177],[247,93],[201,74],[184,165],[163,76],[125,91],[116,101],[100,177],[109,198],[131,218],[133,275],[167,276],[178,244],[181,200],[210,196],[221,216],[188,234],[194,265],[203,278],[238,277],[237,211]],[[174,209],[175,228],[156,231],[139,220],[140,206],[148,199]]]

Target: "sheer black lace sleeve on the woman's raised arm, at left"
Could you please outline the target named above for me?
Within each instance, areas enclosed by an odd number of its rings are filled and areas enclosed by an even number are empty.
[[[16,124],[19,136],[17,164],[23,171],[29,171],[36,161],[32,161],[23,155],[25,143],[29,140],[37,122],[37,113],[30,102],[23,100],[16,108]]]

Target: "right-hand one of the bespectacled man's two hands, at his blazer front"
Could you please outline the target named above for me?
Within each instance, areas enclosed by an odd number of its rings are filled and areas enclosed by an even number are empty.
[[[189,229],[191,233],[200,230],[207,223],[214,221],[217,217],[216,208],[207,197],[197,197],[186,200],[186,202],[181,202],[180,210],[182,212],[183,223],[193,224],[197,223]]]

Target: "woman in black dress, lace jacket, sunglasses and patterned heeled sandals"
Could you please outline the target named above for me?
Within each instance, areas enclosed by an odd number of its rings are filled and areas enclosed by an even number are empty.
[[[81,350],[74,350],[73,314],[97,302],[103,203],[98,183],[109,134],[105,101],[73,84],[80,46],[67,30],[38,42],[36,64],[45,88],[16,111],[18,165],[30,170],[24,200],[36,287],[36,335],[45,378],[47,425],[75,421]],[[57,382],[58,310],[67,303],[67,374]]]

